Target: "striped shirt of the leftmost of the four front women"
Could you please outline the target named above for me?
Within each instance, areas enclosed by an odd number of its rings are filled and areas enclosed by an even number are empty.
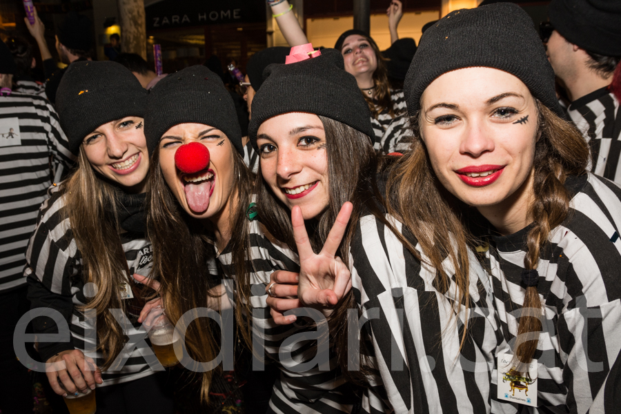
[[[150,242],[144,235],[136,233],[122,233],[120,237],[130,274],[148,276],[152,267]],[[79,349],[95,359],[97,365],[101,365],[103,355],[100,351],[94,351],[97,338],[95,319],[89,318],[77,308],[88,304],[89,299],[83,291],[85,280],[81,273],[81,255],[72,236],[64,197],[58,187],[50,191],[50,198],[41,205],[37,228],[30,238],[26,259],[28,265],[24,276],[30,279],[28,296],[32,298],[32,306],[54,308],[65,315],[71,333],[70,342],[40,344],[39,353],[43,360],[60,351]],[[128,283],[132,282],[128,279]],[[35,333],[47,333],[47,329],[42,331],[41,324],[37,324],[36,320],[33,322]],[[139,332],[139,327],[140,324],[136,322],[128,328],[126,335],[130,338],[143,335],[144,330]],[[104,371],[103,384],[97,386],[137,380],[155,373],[143,355],[141,349],[133,350],[130,355],[126,355],[128,359],[120,370]]]

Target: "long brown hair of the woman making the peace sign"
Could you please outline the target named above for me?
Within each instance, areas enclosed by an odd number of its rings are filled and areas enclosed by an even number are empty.
[[[351,219],[337,253],[348,265],[349,246],[355,232],[355,224],[365,209],[386,225],[391,226],[382,215],[383,197],[375,181],[380,159],[375,155],[371,139],[362,132],[327,117],[319,116],[319,119],[321,119],[326,133],[329,203],[319,217],[306,221],[306,227],[311,246],[315,252],[318,252],[324,245],[341,206],[346,201],[351,201],[353,204]],[[257,205],[260,220],[267,230],[276,239],[286,242],[292,250],[297,251],[293,239],[290,210],[275,197],[264,181],[260,172],[260,164],[257,175]],[[347,311],[351,308],[357,308],[352,292],[342,299],[339,306],[328,317],[330,332],[346,330]],[[348,370],[347,337],[348,335],[337,335],[335,337],[335,349],[339,353],[339,365],[342,372],[350,380],[357,384],[365,384],[366,377],[371,373],[370,364],[368,361],[362,360],[360,371]],[[364,341],[361,346],[364,347]],[[368,354],[362,353],[362,355]]]

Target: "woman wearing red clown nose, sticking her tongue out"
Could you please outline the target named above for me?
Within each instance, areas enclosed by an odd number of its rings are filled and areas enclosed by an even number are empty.
[[[313,334],[315,328],[302,317],[290,326],[270,317],[269,276],[274,270],[297,272],[298,258],[257,220],[254,176],[242,159],[235,108],[219,77],[193,66],[161,80],[149,95],[145,133],[152,156],[153,275],[170,320],[176,324],[195,308],[217,308],[225,290],[219,279],[233,279],[238,332],[248,348],[255,344],[260,363],[280,371],[262,413],[350,413],[359,397],[339,374],[335,355],[326,347],[325,363],[317,366],[317,335],[287,343],[290,335]],[[208,270],[215,259],[217,275]],[[186,347],[200,362],[212,361],[218,351],[210,329],[201,317],[186,332]],[[230,352],[228,346],[221,351]],[[204,373],[204,395],[209,377],[210,371]],[[248,412],[259,412],[262,401],[249,403]]]

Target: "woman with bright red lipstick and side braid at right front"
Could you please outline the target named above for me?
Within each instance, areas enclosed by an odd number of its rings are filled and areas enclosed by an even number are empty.
[[[478,238],[511,345],[497,408],[618,411],[621,188],[586,172],[530,17],[512,3],[451,12],[425,32],[405,90],[415,141],[391,206],[411,223],[442,193]]]

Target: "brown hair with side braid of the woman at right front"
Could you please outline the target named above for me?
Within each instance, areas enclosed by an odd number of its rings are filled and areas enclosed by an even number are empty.
[[[584,174],[589,160],[589,148],[575,126],[558,117],[540,101],[535,99],[535,103],[540,138],[535,145],[533,162],[535,197],[529,207],[529,217],[532,217],[533,224],[527,235],[527,252],[524,257],[526,270],[537,268],[540,253],[549,246],[551,231],[569,215],[570,195],[564,187],[567,176]],[[395,208],[402,212],[404,223],[410,228],[417,219],[431,219],[426,217],[429,214],[443,217],[457,242],[459,254],[453,262],[459,259],[458,262],[463,266],[468,263],[465,254],[467,244],[474,237],[466,230],[471,226],[467,219],[469,207],[456,201],[435,176],[422,141],[420,116],[411,117],[410,124],[414,132],[413,144],[411,152],[403,157],[399,167],[391,173],[388,187],[394,188],[393,193],[398,195],[397,199],[391,201],[395,201]],[[421,199],[426,201],[426,208],[422,208]],[[432,242],[430,238],[419,241],[421,244]],[[467,303],[467,279],[464,277],[467,274],[458,270],[455,282],[460,286],[460,300]],[[531,362],[537,349],[538,333],[542,328],[541,308],[537,287],[527,287],[517,335],[526,335],[523,337],[530,339],[522,342],[515,350],[513,364],[517,372],[524,372],[523,364]]]

